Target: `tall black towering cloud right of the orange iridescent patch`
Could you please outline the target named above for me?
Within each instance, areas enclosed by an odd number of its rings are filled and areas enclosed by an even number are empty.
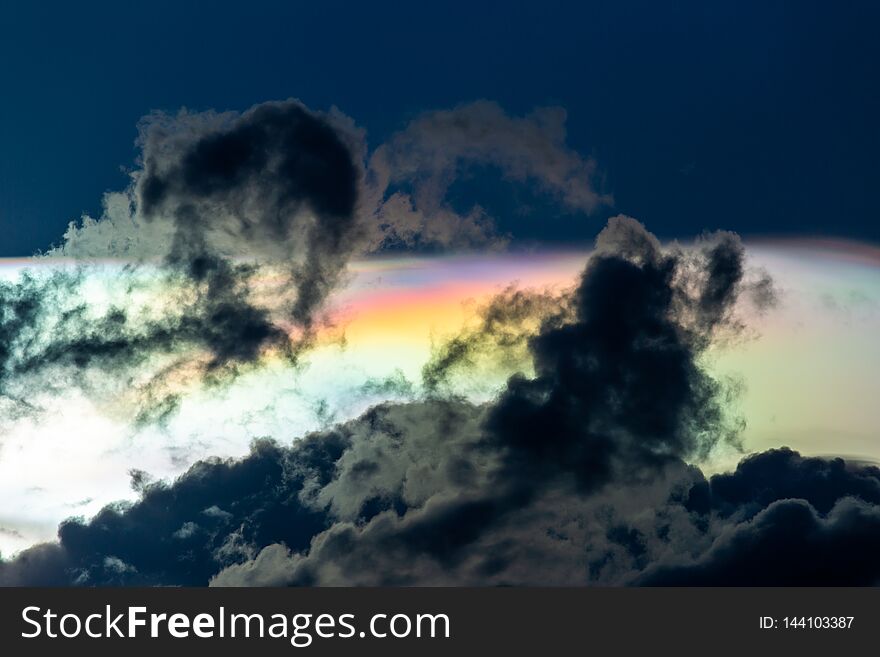
[[[736,299],[744,253],[730,235],[704,253],[710,266],[694,269],[634,220],[609,222],[574,292],[575,320],[531,341],[536,376],[511,379],[490,414],[518,479],[562,469],[595,488],[614,470],[735,438],[722,384],[698,357]]]

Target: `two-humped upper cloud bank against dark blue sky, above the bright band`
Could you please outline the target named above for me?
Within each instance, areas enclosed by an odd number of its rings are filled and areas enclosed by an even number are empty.
[[[131,188],[107,194],[100,219],[71,223],[50,255],[155,258],[173,246],[299,262],[323,253],[320,289],[334,278],[333,254],[503,248],[509,236],[485,208],[459,212],[447,198],[475,167],[575,212],[612,203],[596,189],[596,163],[566,144],[565,121],[558,107],[516,117],[479,101],[426,112],[370,152],[352,119],[296,100],[153,113],[140,124]]]

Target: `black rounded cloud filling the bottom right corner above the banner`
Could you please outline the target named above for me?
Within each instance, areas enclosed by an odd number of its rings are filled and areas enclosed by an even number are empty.
[[[700,482],[688,507],[715,535],[705,551],[669,555],[641,585],[867,586],[880,582],[880,469],[789,449],[749,456]]]

